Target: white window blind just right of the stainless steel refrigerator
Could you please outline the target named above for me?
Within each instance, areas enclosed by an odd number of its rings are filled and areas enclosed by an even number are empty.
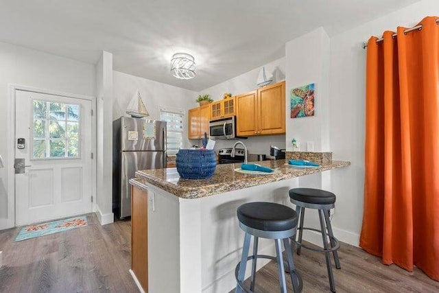
[[[184,118],[185,115],[183,113],[173,113],[163,109],[160,112],[161,121],[166,121],[166,148],[168,155],[176,154],[180,148],[183,148]]]

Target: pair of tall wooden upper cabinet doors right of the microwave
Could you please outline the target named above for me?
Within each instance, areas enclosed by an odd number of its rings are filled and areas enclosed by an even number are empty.
[[[285,133],[285,82],[237,95],[237,135]]]

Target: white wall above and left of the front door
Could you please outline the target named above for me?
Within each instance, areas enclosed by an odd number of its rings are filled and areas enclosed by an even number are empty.
[[[7,195],[8,184],[14,184],[13,175],[8,178],[7,174],[14,165],[8,158],[8,143],[12,145],[8,142],[8,84],[94,96],[95,67],[0,42],[0,154],[5,163],[0,169],[0,229],[14,225],[14,215],[8,213],[8,206],[13,211],[14,194],[9,201]]]

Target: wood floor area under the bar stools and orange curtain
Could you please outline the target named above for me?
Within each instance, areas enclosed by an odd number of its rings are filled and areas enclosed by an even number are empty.
[[[418,268],[415,268],[414,272],[407,272],[395,265],[385,266],[379,257],[344,243],[341,243],[338,255],[341,270],[335,269],[333,265],[337,293],[439,292],[439,282],[429,279]],[[333,259],[331,261],[333,263]],[[302,292],[331,292],[323,253],[302,248],[300,255],[294,253],[294,264],[302,274]],[[250,288],[249,280],[246,280],[245,284]],[[291,279],[287,285],[288,292],[293,292]],[[258,293],[279,292],[277,265],[274,261],[270,261],[257,272],[255,287],[254,291]],[[232,292],[235,290],[230,291]]]

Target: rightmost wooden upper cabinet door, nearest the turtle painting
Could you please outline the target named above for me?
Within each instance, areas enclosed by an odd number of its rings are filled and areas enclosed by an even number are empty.
[[[259,133],[285,133],[285,82],[258,90]]]

